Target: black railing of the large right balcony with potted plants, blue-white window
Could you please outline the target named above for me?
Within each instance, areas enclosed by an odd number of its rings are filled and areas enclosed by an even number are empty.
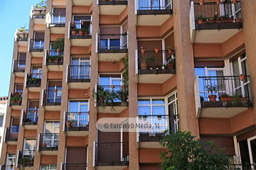
[[[250,76],[198,77],[201,101],[252,101]],[[212,96],[213,95],[213,96]]]

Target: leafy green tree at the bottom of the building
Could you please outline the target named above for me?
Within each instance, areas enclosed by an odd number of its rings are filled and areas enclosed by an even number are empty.
[[[218,149],[213,141],[196,140],[191,132],[178,130],[166,135],[160,145],[167,150],[159,154],[162,160],[159,166],[162,170],[221,170],[228,169],[230,163],[224,154],[225,148]]]

